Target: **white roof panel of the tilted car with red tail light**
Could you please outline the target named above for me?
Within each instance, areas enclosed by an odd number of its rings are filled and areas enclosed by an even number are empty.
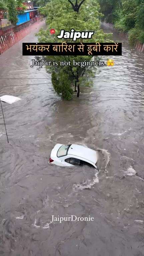
[[[97,152],[95,150],[77,144],[72,144],[69,147],[68,155],[84,158],[94,164],[96,164],[98,160]]]

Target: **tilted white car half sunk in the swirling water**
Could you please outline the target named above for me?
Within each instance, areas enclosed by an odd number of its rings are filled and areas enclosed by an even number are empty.
[[[49,163],[59,166],[88,165],[97,168],[98,152],[77,144],[56,144],[52,149]]]

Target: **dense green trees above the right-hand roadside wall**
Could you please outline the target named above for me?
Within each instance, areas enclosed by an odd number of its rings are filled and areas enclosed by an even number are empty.
[[[129,32],[129,40],[144,43],[144,0],[99,0],[101,12],[118,30]]]

